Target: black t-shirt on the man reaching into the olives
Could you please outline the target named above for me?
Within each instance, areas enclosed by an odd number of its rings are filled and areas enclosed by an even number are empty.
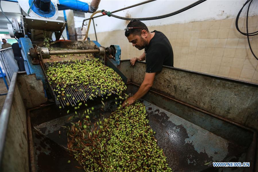
[[[162,65],[174,65],[173,50],[168,38],[162,32],[153,32],[155,35],[145,48],[146,73],[161,71]]]

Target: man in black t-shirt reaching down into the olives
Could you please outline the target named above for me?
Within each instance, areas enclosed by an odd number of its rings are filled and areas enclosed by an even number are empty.
[[[162,70],[162,65],[173,67],[173,50],[168,38],[159,31],[149,32],[147,26],[132,20],[125,28],[125,36],[139,50],[145,52],[138,58],[131,59],[131,65],[136,61],[146,60],[146,73],[139,90],[124,101],[123,106],[133,104],[137,99],[144,96],[152,87],[155,75]]]

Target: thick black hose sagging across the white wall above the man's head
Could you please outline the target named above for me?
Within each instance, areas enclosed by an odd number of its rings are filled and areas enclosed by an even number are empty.
[[[192,3],[191,5],[188,5],[187,7],[184,7],[182,9],[179,9],[179,10],[174,11],[172,13],[165,14],[165,15],[162,15],[162,16],[156,16],[156,17],[126,18],[126,17],[121,17],[121,16],[113,15],[112,12],[111,12],[110,16],[115,17],[115,18],[119,18],[119,19],[122,19],[122,20],[156,20],[156,19],[162,19],[162,18],[174,16],[174,15],[179,14],[179,13],[181,13],[183,11],[186,11],[186,10],[192,8],[192,7],[195,7],[196,5],[199,5],[200,3],[203,3],[204,1],[206,1],[206,0],[199,0],[199,1],[196,1],[195,3]]]

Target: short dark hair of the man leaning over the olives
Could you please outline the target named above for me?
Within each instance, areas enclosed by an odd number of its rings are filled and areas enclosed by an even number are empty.
[[[132,20],[131,22],[128,23],[127,27],[139,27],[137,29],[129,29],[129,30],[125,30],[125,36],[129,36],[130,34],[133,34],[133,35],[141,35],[141,31],[142,30],[146,30],[147,32],[149,32],[147,26],[139,21],[139,20]]]

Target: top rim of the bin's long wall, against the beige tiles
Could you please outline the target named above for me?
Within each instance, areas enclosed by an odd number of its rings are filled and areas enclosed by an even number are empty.
[[[121,60],[121,62],[122,61],[130,61],[130,59]],[[136,63],[144,63],[144,64],[146,64],[146,62],[144,62],[144,61],[136,61]],[[167,69],[174,69],[174,70],[178,70],[178,71],[188,72],[188,73],[191,73],[191,74],[203,75],[203,76],[208,76],[208,77],[212,77],[212,78],[216,78],[216,79],[220,79],[220,80],[226,80],[226,81],[235,82],[235,83],[239,83],[239,84],[246,84],[246,85],[251,85],[251,86],[258,87],[258,84],[253,83],[253,82],[247,82],[247,81],[241,81],[241,80],[236,80],[236,79],[232,79],[232,78],[226,78],[226,77],[222,77],[222,76],[205,74],[205,73],[201,73],[201,72],[191,71],[191,70],[187,70],[187,69],[180,69],[180,68],[171,67],[171,66],[163,65],[163,67],[167,68]]]

